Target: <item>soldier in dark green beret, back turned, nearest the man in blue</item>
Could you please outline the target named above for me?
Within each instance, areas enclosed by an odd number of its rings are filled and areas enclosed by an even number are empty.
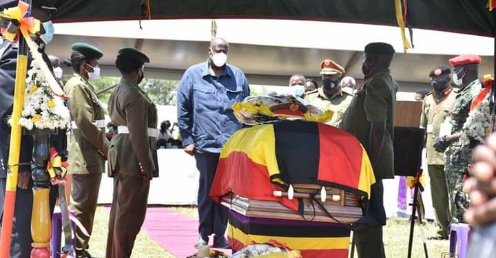
[[[121,72],[109,99],[109,115],[117,126],[110,141],[109,175],[114,178],[110,210],[107,258],[130,257],[143,221],[149,180],[158,176],[156,159],[156,107],[138,86],[149,58],[135,48],[118,51],[116,67]]]

